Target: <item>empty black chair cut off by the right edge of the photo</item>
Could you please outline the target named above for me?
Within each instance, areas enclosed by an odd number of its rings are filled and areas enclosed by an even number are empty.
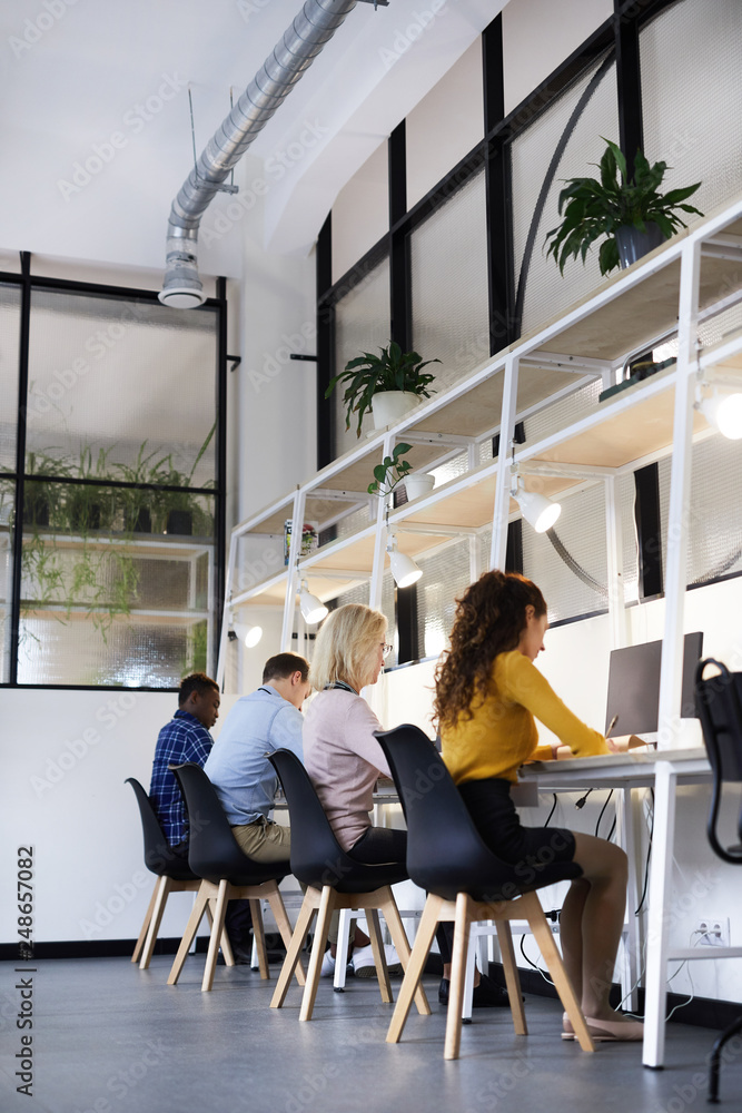
[[[719,673],[703,679],[706,666],[713,664]],[[740,844],[724,847],[719,838],[719,807],[724,784],[742,782],[742,672],[730,672],[725,664],[712,657],[699,661],[695,669],[695,706],[706,743],[709,764],[713,772],[711,806],[706,835],[711,848],[723,861],[742,866],[742,810],[736,825]],[[719,1101],[719,1070],[721,1052],[732,1036],[742,1032],[742,1016],[722,1032],[713,1045],[709,1063],[709,1101]]]

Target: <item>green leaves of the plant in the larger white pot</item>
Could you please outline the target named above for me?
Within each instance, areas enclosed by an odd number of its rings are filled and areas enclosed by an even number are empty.
[[[380,355],[364,352],[355,359],[349,359],[345,371],[330,380],[325,397],[328,398],[339,383],[345,383],[343,402],[346,406],[345,427],[350,429],[353,414],[357,414],[356,435],[360,436],[364,414],[372,408],[375,394],[383,391],[407,391],[429,398],[428,386],[435,375],[423,373],[423,367],[439,359],[423,361],[417,352],[403,352],[399,345],[392,341],[385,348],[379,348]]]

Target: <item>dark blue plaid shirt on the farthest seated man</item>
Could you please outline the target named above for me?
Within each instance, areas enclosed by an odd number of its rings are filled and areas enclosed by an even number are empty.
[[[168,766],[195,761],[202,767],[212,746],[210,733],[190,711],[176,711],[158,735],[149,798],[170,846],[188,838],[188,821],[178,782]]]

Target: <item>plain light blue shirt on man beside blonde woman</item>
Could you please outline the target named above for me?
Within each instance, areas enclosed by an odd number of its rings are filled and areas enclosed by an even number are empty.
[[[265,757],[285,747],[304,760],[304,717],[271,684],[237,700],[225,719],[204,771],[233,826],[267,818],[278,778]]]

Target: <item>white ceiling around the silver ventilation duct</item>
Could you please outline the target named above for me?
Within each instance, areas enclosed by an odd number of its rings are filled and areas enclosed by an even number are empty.
[[[240,236],[248,224],[255,235],[257,214],[264,246],[306,254],[339,188],[503,6],[358,3],[240,164],[246,204],[256,179],[267,193],[245,221],[201,236],[202,272],[239,276]],[[229,111],[230,88],[241,93],[299,8],[3,0],[0,265],[27,249],[160,268],[170,203],[192,165],[188,88],[200,154]],[[217,198],[202,233],[219,227],[229,201]]]

